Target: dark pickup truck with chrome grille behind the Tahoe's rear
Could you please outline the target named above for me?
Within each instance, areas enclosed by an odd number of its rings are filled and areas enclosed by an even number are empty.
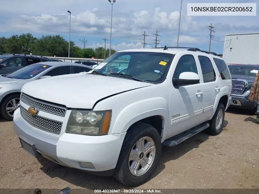
[[[232,101],[231,107],[247,109],[251,114],[255,114],[257,102],[249,102],[248,96],[253,81],[259,70],[259,65],[228,65],[232,78]]]

